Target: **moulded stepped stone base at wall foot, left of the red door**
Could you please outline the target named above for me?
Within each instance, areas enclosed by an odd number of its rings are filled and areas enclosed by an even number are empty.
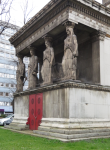
[[[10,125],[6,125],[4,127],[13,130],[28,130],[29,125],[26,125],[26,122],[27,117],[14,118],[13,122]]]

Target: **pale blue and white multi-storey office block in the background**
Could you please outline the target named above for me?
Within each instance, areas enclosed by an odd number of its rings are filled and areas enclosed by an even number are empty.
[[[6,23],[3,22],[5,25]],[[3,26],[0,27],[2,30]],[[10,44],[9,38],[19,30],[18,26],[8,24],[0,35],[0,110],[5,113],[13,112],[13,93],[16,91],[17,57],[15,48]],[[28,63],[28,59],[24,61]],[[26,65],[27,67],[27,65]],[[26,89],[27,86],[24,87]],[[1,114],[1,112],[0,112]]]

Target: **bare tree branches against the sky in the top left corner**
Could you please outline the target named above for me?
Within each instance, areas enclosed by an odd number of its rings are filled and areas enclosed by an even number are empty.
[[[13,0],[0,0],[0,35],[8,28],[12,3]]]

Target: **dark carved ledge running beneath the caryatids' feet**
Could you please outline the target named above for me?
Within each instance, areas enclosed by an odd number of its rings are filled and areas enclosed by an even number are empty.
[[[86,83],[75,82],[75,81],[66,81],[62,83],[38,87],[33,90],[27,90],[24,92],[15,93],[14,97],[18,97],[22,95],[30,95],[34,93],[43,93],[46,91],[62,89],[62,88],[80,88],[80,89],[110,92],[110,86],[106,87],[106,86],[101,86],[101,85],[92,85],[92,84],[86,84]]]

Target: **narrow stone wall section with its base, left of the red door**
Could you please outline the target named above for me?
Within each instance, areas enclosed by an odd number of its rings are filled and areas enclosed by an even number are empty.
[[[29,118],[29,96],[18,96],[14,98],[14,120],[5,128],[15,130],[27,130],[26,125]]]

